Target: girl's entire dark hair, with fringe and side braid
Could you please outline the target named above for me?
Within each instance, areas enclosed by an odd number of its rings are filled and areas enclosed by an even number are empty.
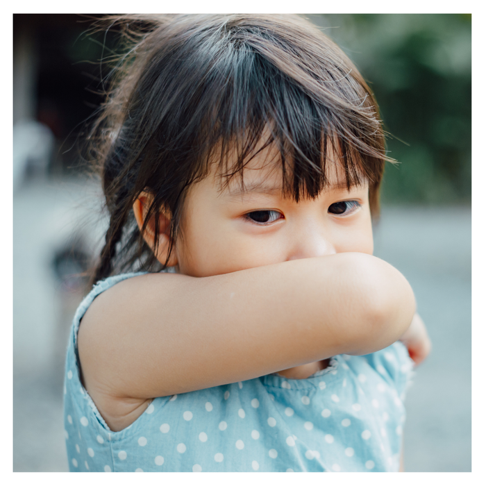
[[[153,196],[145,224],[162,208],[171,216],[170,253],[187,188],[214,161],[226,181],[241,175],[264,135],[264,146],[280,151],[286,195],[299,201],[326,187],[332,147],[349,187],[367,178],[378,215],[384,162],[391,160],[378,106],[349,58],[310,22],[246,14],[105,22],[121,26],[128,51],[91,135],[110,212],[94,281],[162,269],[133,217],[142,191]]]

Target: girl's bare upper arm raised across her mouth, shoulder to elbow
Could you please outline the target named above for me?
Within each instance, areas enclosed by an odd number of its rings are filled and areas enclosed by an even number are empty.
[[[371,353],[413,312],[405,278],[356,253],[205,278],[146,274],[94,300],[78,349],[88,392],[146,399]]]

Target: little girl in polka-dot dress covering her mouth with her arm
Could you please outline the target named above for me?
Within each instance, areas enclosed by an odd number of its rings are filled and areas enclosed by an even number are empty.
[[[133,44],[94,131],[110,226],[67,351],[71,471],[398,471],[430,345],[372,256],[369,87],[299,17],[116,20]]]

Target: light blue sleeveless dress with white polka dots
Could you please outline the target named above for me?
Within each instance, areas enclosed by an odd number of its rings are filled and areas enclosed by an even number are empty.
[[[112,432],[81,385],[76,338],[94,298],[135,275],[95,285],[74,316],[64,388],[71,471],[398,471],[412,374],[400,342],[337,355],[304,380],[271,374],[161,396]]]

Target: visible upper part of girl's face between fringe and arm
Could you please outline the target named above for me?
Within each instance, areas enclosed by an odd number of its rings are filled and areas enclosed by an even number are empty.
[[[373,253],[368,184],[346,189],[339,165],[332,187],[296,203],[281,194],[282,172],[263,151],[221,189],[212,173],[187,194],[175,247],[181,274],[204,277],[345,251]],[[278,168],[276,168],[278,167]],[[215,172],[215,171],[214,171]]]

